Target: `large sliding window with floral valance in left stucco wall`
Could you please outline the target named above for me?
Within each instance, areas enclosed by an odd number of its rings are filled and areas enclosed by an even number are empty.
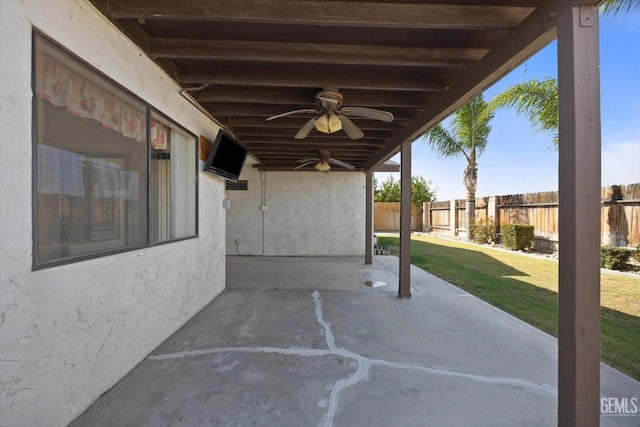
[[[34,266],[195,236],[195,137],[39,35],[34,64]]]

